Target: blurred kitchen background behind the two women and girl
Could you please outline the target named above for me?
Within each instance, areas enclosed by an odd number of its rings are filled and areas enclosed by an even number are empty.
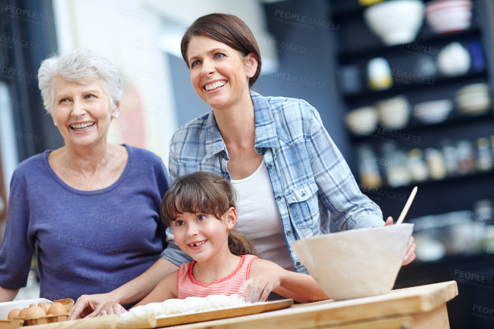
[[[397,288],[456,280],[451,328],[492,328],[478,312],[494,309],[492,0],[0,0],[0,237],[13,170],[63,146],[42,107],[41,61],[63,47],[110,59],[124,96],[108,140],[167,164],[172,133],[210,110],[180,40],[211,12],[247,23],[263,60],[254,88],[315,106],[384,218],[418,186],[406,219],[417,259]],[[37,280],[34,257],[16,299],[38,297]]]

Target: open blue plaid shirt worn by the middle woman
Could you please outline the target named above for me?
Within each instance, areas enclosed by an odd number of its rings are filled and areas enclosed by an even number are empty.
[[[383,226],[379,206],[360,192],[343,156],[323,126],[319,113],[301,99],[264,97],[250,91],[255,114],[255,149],[273,187],[293,266],[307,273],[290,246],[292,241],[329,233],[329,220],[341,230]],[[212,110],[174,134],[170,142],[170,178],[193,171],[215,172],[230,180],[228,151]],[[176,265],[192,261],[174,243],[162,257]]]

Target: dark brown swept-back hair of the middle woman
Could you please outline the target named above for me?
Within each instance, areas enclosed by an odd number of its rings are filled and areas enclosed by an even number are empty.
[[[243,20],[235,15],[220,13],[208,14],[196,19],[187,31],[185,31],[182,42],[180,43],[182,57],[189,69],[187,47],[189,46],[189,41],[195,36],[206,36],[224,43],[240,51],[244,57],[251,52],[254,53],[257,56],[257,70],[254,76],[248,80],[249,88],[254,84],[261,73],[261,54],[254,34]]]

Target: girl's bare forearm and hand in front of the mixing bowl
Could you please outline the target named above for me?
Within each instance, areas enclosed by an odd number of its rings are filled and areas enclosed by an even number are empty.
[[[252,262],[249,278],[240,288],[240,293],[247,288],[247,302],[264,301],[271,291],[303,303],[329,299],[310,275],[287,271],[264,259]]]

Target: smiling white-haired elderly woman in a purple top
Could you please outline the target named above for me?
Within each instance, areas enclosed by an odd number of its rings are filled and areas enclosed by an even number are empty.
[[[105,64],[106,63],[106,64]],[[149,269],[165,247],[161,200],[169,187],[155,154],[107,143],[120,114],[122,85],[108,60],[72,49],[41,63],[44,107],[65,146],[14,171],[0,257],[0,302],[26,285],[38,245],[41,297],[108,292]],[[132,168],[132,161],[147,163]],[[156,285],[156,283],[154,283]]]

